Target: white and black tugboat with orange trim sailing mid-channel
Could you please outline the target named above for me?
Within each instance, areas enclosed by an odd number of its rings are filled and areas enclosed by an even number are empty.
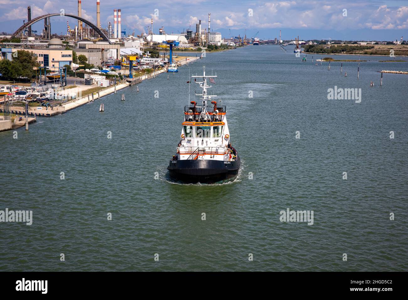
[[[181,140],[167,167],[170,178],[183,183],[231,181],[241,165],[237,150],[231,146],[226,106],[217,106],[213,100],[217,96],[207,95],[207,88],[211,88],[207,79],[215,83],[213,77],[217,76],[207,76],[205,66],[203,69],[202,76],[191,76],[203,89],[202,94],[196,94],[201,96],[202,105],[191,101],[184,107]]]

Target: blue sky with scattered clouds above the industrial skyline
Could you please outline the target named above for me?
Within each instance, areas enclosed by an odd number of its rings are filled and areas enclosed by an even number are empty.
[[[27,6],[31,18],[46,14],[78,14],[77,0],[0,0],[0,32],[13,33],[27,20]],[[113,26],[113,9],[122,11],[122,30],[131,34],[146,32],[153,18],[153,31],[164,26],[166,33],[179,33],[184,29],[195,31],[195,24],[202,20],[207,28],[211,13],[211,31],[223,37],[245,35],[261,39],[279,38],[292,40],[408,40],[408,0],[164,0],[128,1],[100,0],[101,24]],[[82,0],[82,17],[96,22],[96,0]],[[67,21],[73,28],[78,22],[73,18],[51,18],[52,33],[66,34]],[[44,22],[32,26],[38,33]],[[231,31],[231,34],[230,34]]]

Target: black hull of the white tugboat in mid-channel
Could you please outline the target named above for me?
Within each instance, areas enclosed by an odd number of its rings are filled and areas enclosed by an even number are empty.
[[[233,180],[239,171],[241,161],[215,161],[211,159],[171,160],[170,178],[183,183],[218,183]]]

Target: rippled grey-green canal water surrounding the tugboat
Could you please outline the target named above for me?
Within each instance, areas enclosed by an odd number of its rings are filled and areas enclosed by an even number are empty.
[[[408,63],[361,62],[357,79],[357,62],[329,71],[286,48],[208,53],[17,139],[0,132],[0,210],[33,211],[32,225],[0,223],[0,271],[406,271],[408,76],[380,86],[377,71]],[[242,169],[232,183],[171,183],[203,64]],[[361,88],[361,102],[328,99],[335,86]],[[287,209],[313,211],[313,225],[281,222]]]

